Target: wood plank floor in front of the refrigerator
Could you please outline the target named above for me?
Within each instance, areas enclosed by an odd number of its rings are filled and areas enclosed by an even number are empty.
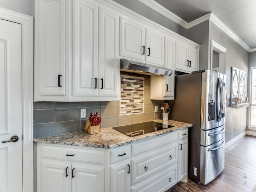
[[[256,137],[245,136],[226,149],[225,168],[212,182],[178,182],[166,192],[251,192],[255,185]]]

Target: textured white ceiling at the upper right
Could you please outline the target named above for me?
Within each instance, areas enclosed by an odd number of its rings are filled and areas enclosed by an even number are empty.
[[[186,22],[213,12],[250,48],[256,48],[256,0],[155,0]]]

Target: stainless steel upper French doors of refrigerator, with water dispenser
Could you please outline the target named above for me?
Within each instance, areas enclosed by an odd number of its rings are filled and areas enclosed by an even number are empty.
[[[202,73],[201,129],[209,130],[225,124],[226,75],[205,70]]]

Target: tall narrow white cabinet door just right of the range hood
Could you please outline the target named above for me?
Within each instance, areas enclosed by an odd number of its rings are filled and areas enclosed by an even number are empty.
[[[165,51],[164,51],[164,67],[172,70],[171,76],[163,76],[164,78],[164,96],[172,97],[174,99],[174,51],[175,40],[172,38],[165,38]],[[169,98],[170,99],[170,98]]]

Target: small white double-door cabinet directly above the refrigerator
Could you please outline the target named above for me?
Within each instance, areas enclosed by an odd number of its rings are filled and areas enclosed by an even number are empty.
[[[183,72],[198,70],[199,48],[188,42],[176,41],[175,45],[175,69]]]

